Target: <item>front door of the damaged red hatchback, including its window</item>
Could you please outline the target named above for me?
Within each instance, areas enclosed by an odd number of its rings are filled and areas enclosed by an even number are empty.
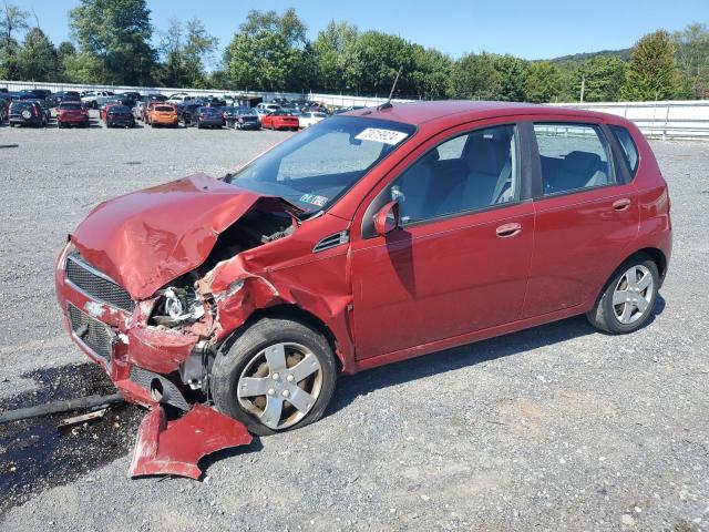
[[[534,229],[520,158],[514,124],[459,130],[425,143],[373,192],[351,246],[359,359],[518,319]],[[372,235],[372,208],[390,198],[403,226]]]

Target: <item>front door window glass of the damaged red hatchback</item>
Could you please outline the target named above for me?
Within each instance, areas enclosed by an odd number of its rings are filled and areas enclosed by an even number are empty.
[[[518,201],[514,125],[476,130],[429,151],[384,194],[403,225]]]

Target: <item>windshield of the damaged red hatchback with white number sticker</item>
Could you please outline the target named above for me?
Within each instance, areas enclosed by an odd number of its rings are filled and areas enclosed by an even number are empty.
[[[280,196],[306,213],[328,207],[415,132],[411,124],[338,116],[323,120],[227,180]]]

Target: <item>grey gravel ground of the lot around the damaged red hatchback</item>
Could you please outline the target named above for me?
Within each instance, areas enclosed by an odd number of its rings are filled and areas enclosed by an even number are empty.
[[[0,127],[0,397],[82,361],[53,262],[97,202],[220,175],[290,133]],[[655,142],[675,252],[654,320],[572,318],[342,378],[318,423],[126,479],[129,457],[39,492],[0,530],[709,530],[709,143]],[[4,471],[0,474],[7,474]]]

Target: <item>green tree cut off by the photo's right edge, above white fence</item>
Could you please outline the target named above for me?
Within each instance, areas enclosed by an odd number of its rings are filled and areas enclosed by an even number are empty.
[[[689,95],[709,98],[709,28],[689,24],[672,35],[677,66],[687,80]]]

